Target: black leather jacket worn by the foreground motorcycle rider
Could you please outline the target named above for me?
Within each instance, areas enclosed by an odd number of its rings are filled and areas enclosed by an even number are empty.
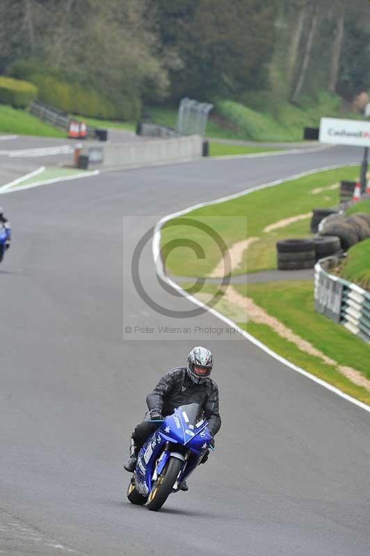
[[[163,416],[171,415],[179,405],[199,403],[204,409],[204,417],[209,421],[209,432],[214,436],[221,427],[218,413],[218,387],[207,378],[195,384],[188,376],[186,367],[171,369],[161,378],[154,390],[147,395],[147,407],[156,409]]]

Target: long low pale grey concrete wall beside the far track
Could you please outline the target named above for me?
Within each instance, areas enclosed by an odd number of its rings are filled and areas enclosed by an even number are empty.
[[[102,145],[102,165],[124,168],[190,161],[202,156],[202,148],[202,138],[198,135]],[[86,154],[85,149],[83,154]]]

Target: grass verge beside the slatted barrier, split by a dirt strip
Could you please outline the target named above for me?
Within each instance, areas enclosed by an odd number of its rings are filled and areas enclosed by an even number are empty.
[[[184,284],[182,286],[184,287]],[[341,325],[314,311],[312,280],[264,282],[248,284],[247,288],[246,285],[234,284],[233,287],[241,295],[248,295],[269,315],[312,343],[327,357],[334,359],[339,365],[355,368],[370,379],[369,346]],[[218,286],[207,284],[202,288],[202,293],[214,295],[217,288]],[[226,306],[225,302],[220,302],[220,306],[216,306],[215,309],[235,320],[235,309]],[[353,398],[370,404],[370,392],[367,389],[351,382],[335,366],[325,363],[320,357],[300,350],[295,343],[282,338],[270,326],[252,320],[237,322],[237,325],[291,363],[336,386]]]

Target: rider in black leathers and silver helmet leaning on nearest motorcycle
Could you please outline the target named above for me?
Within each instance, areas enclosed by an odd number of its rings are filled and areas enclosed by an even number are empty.
[[[138,452],[150,434],[161,426],[165,416],[172,415],[176,407],[184,404],[199,403],[204,411],[204,418],[209,421],[209,432],[214,436],[220,430],[221,418],[218,412],[218,387],[209,375],[214,366],[212,354],[206,347],[193,347],[188,354],[186,367],[172,368],[164,375],[154,390],[147,395],[149,411],[131,434],[130,455],[124,464],[126,471],[132,473],[138,461]],[[209,450],[200,463],[208,459]],[[188,490],[186,482],[180,489]]]

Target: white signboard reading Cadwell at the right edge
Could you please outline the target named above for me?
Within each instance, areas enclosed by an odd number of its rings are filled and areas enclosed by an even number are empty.
[[[332,145],[370,147],[370,122],[322,117],[319,141],[322,143],[332,143]]]

